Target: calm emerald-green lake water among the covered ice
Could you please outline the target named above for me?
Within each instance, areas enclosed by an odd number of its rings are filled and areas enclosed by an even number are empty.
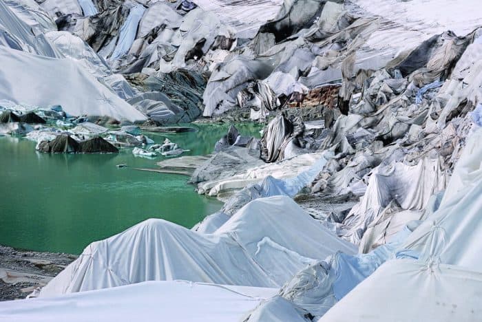
[[[198,131],[146,133],[169,138],[184,155],[211,153],[229,125],[189,125]],[[237,125],[259,137],[258,125]],[[0,136],[0,244],[27,250],[79,254],[92,241],[112,236],[147,218],[187,228],[220,209],[198,195],[185,175],[138,171],[165,157],[118,154],[65,155],[35,151],[35,142]],[[118,169],[116,164],[128,164]]]

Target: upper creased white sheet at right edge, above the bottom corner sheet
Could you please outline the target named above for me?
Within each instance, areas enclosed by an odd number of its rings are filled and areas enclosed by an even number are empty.
[[[472,133],[439,210],[407,239],[410,255],[482,271],[482,129]]]

